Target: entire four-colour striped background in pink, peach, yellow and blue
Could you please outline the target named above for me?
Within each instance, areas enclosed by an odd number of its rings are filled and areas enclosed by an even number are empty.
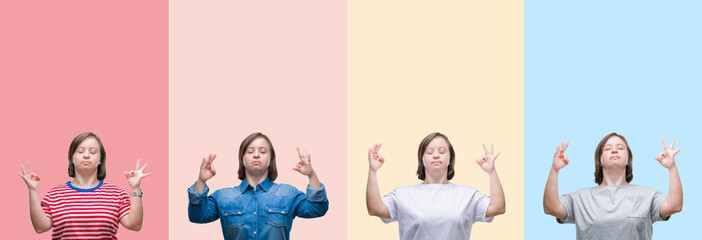
[[[700,147],[702,5],[697,1],[2,1],[0,150],[7,164],[0,221],[15,239],[46,239],[29,220],[16,176],[31,162],[40,197],[66,175],[80,132],[99,134],[107,181],[136,159],[144,180],[140,232],[120,239],[221,239],[219,223],[187,220],[185,189],[203,156],[217,153],[212,189],[236,179],[236,150],[268,134],[279,182],[307,147],[330,210],[298,219],[293,239],[396,239],[365,209],[366,150],[383,143],[382,193],[419,183],[419,141],[447,134],[458,154],[453,182],[488,193],[473,159],[482,143],[507,213],[474,225],[473,239],[562,239],[574,226],[543,214],[553,148],[571,141],[561,192],[593,186],[592,152],[617,131],[636,155],[634,183],[667,193],[653,161],[676,139],[685,207],[654,224],[654,238],[689,238],[702,213],[694,169]]]

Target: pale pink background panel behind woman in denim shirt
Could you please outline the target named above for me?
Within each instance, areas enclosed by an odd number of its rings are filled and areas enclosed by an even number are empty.
[[[186,188],[217,153],[211,190],[233,187],[236,151],[252,132],[270,136],[278,179],[304,191],[291,168],[307,147],[327,188],[321,218],[296,218],[292,239],[346,238],[346,2],[170,3],[171,239],[222,239],[219,221],[190,223]]]

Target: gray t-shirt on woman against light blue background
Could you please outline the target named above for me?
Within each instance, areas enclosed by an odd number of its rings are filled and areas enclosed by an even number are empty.
[[[577,239],[652,239],[652,224],[661,218],[666,196],[653,188],[629,184],[582,188],[561,197],[568,216],[558,223],[575,223]]]

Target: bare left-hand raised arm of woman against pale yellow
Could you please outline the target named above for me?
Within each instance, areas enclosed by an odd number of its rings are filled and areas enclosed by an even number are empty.
[[[375,144],[372,148],[368,149],[368,182],[366,183],[366,207],[368,208],[368,214],[371,216],[377,216],[381,218],[390,218],[390,211],[388,207],[383,203],[383,199],[380,197],[380,190],[378,188],[378,177],[376,173],[385,159],[378,154],[381,144]]]

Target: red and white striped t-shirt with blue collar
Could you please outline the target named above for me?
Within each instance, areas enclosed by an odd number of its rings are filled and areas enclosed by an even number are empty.
[[[129,213],[129,195],[114,184],[91,189],[71,182],[55,186],[41,201],[53,221],[52,239],[117,239],[119,220]]]

